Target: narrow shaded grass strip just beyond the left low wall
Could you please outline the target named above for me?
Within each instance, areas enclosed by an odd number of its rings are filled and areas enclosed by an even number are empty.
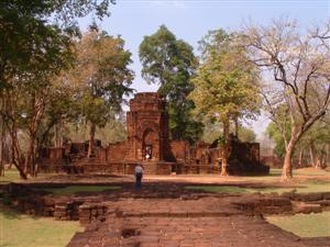
[[[120,190],[121,187],[113,186],[69,186],[62,188],[41,188],[44,191],[48,191],[54,195],[73,195],[79,192],[100,192],[109,190]]]

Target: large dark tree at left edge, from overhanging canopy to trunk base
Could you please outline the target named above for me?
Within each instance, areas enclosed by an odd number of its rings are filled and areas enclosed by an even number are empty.
[[[75,18],[90,12],[102,18],[109,14],[110,3],[113,1],[0,2],[1,122],[11,136],[11,161],[24,179],[29,170],[35,175],[36,137],[51,79],[73,61],[72,37],[78,34]],[[22,150],[21,134],[28,135],[28,150]]]

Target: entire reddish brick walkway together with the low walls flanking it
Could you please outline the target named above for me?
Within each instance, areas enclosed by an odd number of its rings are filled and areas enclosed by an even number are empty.
[[[301,203],[309,207],[324,204],[329,193],[212,194],[186,191],[179,183],[150,182],[140,190],[133,184],[122,186],[119,191],[50,200],[41,192],[37,199],[36,191],[32,191],[35,201],[28,197],[31,191],[26,186],[13,184],[10,191],[22,211],[46,212],[58,220],[79,217],[86,229],[75,234],[68,247],[330,246],[330,237],[299,238],[262,216],[300,212]]]

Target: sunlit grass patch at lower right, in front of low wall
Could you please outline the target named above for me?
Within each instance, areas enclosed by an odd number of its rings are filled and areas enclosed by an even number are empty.
[[[267,221],[300,237],[330,236],[330,212],[296,214],[293,216],[268,216]]]

